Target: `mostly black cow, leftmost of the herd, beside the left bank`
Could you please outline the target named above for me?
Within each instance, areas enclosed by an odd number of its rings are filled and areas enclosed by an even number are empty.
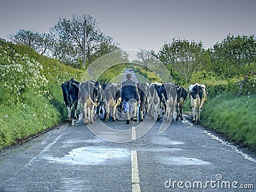
[[[63,93],[63,99],[68,109],[67,120],[70,124],[72,124],[73,120],[77,120],[79,116],[79,111],[77,108],[79,82],[72,78],[70,81],[66,81],[65,83],[61,84],[61,90]]]

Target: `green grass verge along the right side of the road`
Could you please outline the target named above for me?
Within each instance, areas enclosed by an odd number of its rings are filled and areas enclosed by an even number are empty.
[[[220,132],[244,147],[256,151],[256,95],[227,92],[208,99],[201,124]]]

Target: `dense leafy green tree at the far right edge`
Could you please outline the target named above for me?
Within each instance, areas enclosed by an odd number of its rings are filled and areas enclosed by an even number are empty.
[[[254,35],[227,35],[211,50],[211,70],[226,78],[255,70],[256,40]]]

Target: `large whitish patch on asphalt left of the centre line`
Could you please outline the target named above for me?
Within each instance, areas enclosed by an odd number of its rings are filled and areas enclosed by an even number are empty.
[[[64,157],[43,156],[51,163],[67,164],[102,164],[111,159],[125,159],[130,152],[124,148],[81,147],[74,148]]]

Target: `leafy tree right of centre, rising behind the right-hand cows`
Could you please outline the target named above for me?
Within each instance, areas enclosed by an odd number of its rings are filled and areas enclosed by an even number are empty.
[[[188,83],[194,71],[202,70],[209,63],[209,54],[202,42],[188,40],[173,39],[171,44],[164,44],[156,56],[170,69],[173,78],[179,83]]]

